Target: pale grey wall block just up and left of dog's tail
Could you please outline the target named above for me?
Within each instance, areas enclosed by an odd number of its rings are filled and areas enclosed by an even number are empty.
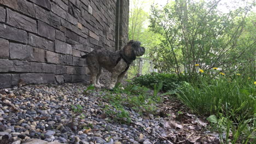
[[[63,54],[72,55],[71,45],[60,40],[55,40],[55,51]]]

